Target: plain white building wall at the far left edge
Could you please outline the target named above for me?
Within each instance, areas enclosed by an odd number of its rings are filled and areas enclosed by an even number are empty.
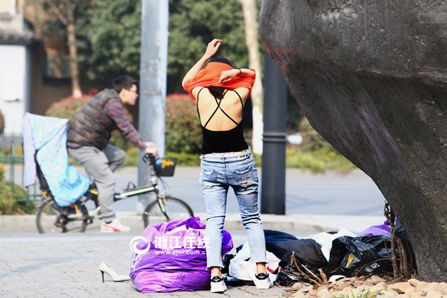
[[[0,109],[4,135],[21,135],[25,105],[29,106],[25,46],[0,45]]]

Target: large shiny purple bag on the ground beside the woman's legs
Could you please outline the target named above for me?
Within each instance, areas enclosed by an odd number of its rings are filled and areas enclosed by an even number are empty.
[[[222,254],[225,254],[232,249],[233,243],[225,230],[222,238]],[[207,271],[206,255],[208,242],[205,224],[201,224],[198,217],[148,225],[134,241],[130,278],[139,291],[210,289],[211,273]]]

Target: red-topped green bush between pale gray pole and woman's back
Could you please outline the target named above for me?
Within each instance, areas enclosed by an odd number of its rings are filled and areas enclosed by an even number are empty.
[[[197,116],[196,101],[188,94],[170,94],[166,97],[166,150],[200,153],[202,131]]]

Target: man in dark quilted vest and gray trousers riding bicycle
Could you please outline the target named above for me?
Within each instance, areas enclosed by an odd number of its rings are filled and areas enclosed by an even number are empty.
[[[135,105],[138,81],[121,75],[113,89],[104,89],[90,99],[74,116],[67,136],[68,152],[94,179],[101,207],[102,232],[130,231],[113,211],[115,178],[113,172],[124,162],[124,150],[108,144],[111,132],[118,129],[142,151],[157,154],[152,142],[145,142],[124,113],[124,104]]]

